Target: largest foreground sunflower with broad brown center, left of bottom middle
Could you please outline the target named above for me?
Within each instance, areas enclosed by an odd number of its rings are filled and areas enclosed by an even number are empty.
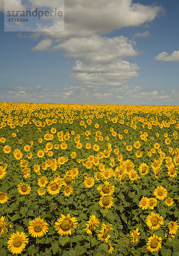
[[[61,216],[62,217],[59,218],[54,224],[55,230],[61,236],[68,234],[71,235],[71,233],[77,228],[77,219],[75,217],[71,218],[69,214],[67,214],[67,216],[61,214]]]

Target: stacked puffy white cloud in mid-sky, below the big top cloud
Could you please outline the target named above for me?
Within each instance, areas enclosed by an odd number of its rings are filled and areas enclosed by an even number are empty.
[[[124,57],[133,57],[138,52],[124,36],[114,38],[93,35],[86,38],[70,38],[52,49],[65,50],[67,58],[76,58],[72,68],[72,82],[81,82],[86,87],[111,87],[126,83],[139,74],[135,63],[123,61]]]

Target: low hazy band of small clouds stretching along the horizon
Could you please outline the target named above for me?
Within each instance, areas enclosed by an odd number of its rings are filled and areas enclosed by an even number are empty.
[[[179,90],[174,89],[168,95],[145,87],[132,87],[127,84],[116,88],[91,89],[82,86],[70,86],[62,90],[52,91],[39,85],[36,87],[0,88],[1,99],[15,102],[51,102],[75,104],[126,104],[137,100],[141,104],[167,104],[179,99]],[[133,103],[132,103],[133,104]]]

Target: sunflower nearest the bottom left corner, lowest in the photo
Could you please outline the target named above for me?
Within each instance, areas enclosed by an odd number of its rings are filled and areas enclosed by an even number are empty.
[[[21,253],[23,249],[26,247],[26,244],[28,244],[28,238],[27,235],[24,232],[18,232],[13,233],[8,242],[8,250],[11,251],[11,253]]]

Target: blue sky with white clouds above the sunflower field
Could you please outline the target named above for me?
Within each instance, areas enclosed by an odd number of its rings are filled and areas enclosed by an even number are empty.
[[[64,32],[4,32],[3,6],[0,102],[179,105],[178,0],[65,0]]]

